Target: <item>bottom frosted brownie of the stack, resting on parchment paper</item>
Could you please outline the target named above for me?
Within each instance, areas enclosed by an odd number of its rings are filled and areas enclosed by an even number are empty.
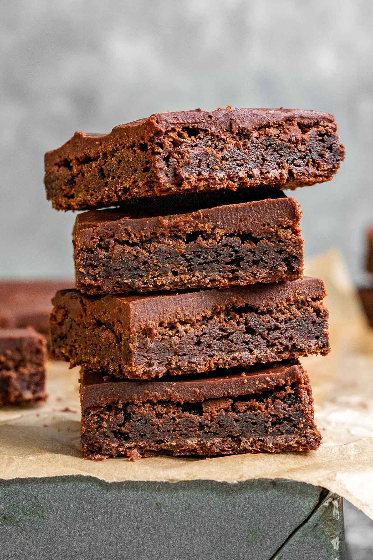
[[[316,450],[321,436],[299,365],[228,370],[201,380],[101,382],[82,371],[87,459]]]

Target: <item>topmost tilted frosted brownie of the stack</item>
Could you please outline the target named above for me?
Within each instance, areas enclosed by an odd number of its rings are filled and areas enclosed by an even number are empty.
[[[75,132],[45,154],[44,182],[54,208],[92,209],[134,197],[322,183],[343,158],[328,113],[196,109],[155,114],[109,134]]]

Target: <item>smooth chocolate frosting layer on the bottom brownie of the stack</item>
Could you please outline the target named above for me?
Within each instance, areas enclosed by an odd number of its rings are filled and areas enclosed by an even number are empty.
[[[223,372],[229,375],[221,375]],[[237,397],[273,390],[286,382],[303,381],[305,371],[299,362],[274,367],[216,370],[204,379],[177,381],[103,381],[102,374],[81,371],[82,410],[112,402],[143,403],[172,400],[178,403],[203,402],[226,396]]]

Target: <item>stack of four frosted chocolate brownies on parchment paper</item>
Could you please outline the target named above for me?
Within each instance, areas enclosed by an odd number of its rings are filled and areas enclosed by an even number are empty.
[[[330,114],[230,108],[46,154],[54,208],[89,210],[50,318],[54,356],[81,366],[84,456],[317,449],[298,358],[329,352],[328,312],[281,189],[330,180],[343,156]]]

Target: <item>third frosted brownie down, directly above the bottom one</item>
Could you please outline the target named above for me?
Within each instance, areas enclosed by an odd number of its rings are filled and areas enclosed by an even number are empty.
[[[327,354],[318,278],[166,295],[53,299],[54,357],[117,377],[151,379]]]

